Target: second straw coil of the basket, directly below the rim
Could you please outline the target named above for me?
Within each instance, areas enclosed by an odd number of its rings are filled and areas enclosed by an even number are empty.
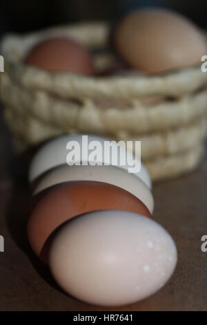
[[[15,106],[21,115],[29,113],[66,132],[70,131],[68,128],[100,134],[168,130],[186,125],[206,115],[207,111],[206,90],[184,95],[179,100],[161,98],[154,105],[144,100],[130,100],[120,107],[120,102],[115,100],[95,102],[87,98],[78,102],[56,97],[39,89],[27,89],[4,73],[0,77],[1,100],[5,104]]]

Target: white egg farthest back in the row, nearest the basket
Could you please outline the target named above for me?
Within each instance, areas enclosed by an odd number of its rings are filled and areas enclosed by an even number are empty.
[[[105,141],[109,141],[106,138],[101,138],[99,136],[88,136],[88,144],[90,144],[92,141],[99,141],[101,145],[104,145]],[[37,151],[37,154],[32,159],[32,162],[30,164],[29,169],[29,180],[30,183],[33,183],[34,180],[37,180],[41,175],[49,171],[50,169],[57,167],[59,165],[66,165],[66,158],[68,155],[68,149],[66,149],[66,146],[69,141],[77,141],[79,143],[80,149],[82,151],[82,135],[81,134],[75,134],[75,135],[66,135],[61,136],[55,139],[50,140],[46,143],[46,145],[43,145],[39,151]],[[117,143],[115,141],[111,142],[112,145],[112,151],[117,151]],[[84,146],[84,145],[83,145]],[[136,160],[137,165],[139,165],[140,161],[139,158],[135,158],[135,156],[132,155],[131,151],[127,151],[128,157],[132,160]],[[126,162],[125,165],[121,165],[121,160],[126,157],[126,148],[119,147],[119,150],[117,151],[117,165],[118,167],[128,170],[128,167],[131,167]],[[104,153],[101,157],[101,159],[97,160],[97,163],[106,163],[106,159],[108,156],[104,156]],[[81,160],[82,161],[82,160]],[[71,160],[69,161],[69,163]],[[75,161],[74,161],[75,163]],[[85,161],[85,163],[87,163]],[[90,162],[91,163],[91,162]],[[110,165],[112,165],[112,159],[110,157]],[[130,174],[130,173],[128,173]],[[133,173],[135,176],[139,177],[143,182],[151,189],[152,183],[150,175],[144,167],[143,164],[141,164],[141,169],[137,173]]]

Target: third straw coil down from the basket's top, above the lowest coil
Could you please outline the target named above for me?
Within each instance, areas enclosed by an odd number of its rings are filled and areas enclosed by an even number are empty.
[[[39,142],[49,140],[55,136],[70,133],[70,130],[65,133],[61,128],[53,127],[51,124],[44,124],[37,118],[31,118],[30,115],[28,118],[25,115],[21,116],[9,106],[5,108],[5,118],[13,133],[19,138],[23,138],[30,146],[38,145]],[[206,132],[206,118],[201,118],[187,127],[173,129],[164,133],[150,133],[139,136],[119,133],[118,136],[109,136],[108,134],[104,136],[116,141],[141,141],[141,159],[148,160],[156,156],[178,154],[195,147],[204,140]]]

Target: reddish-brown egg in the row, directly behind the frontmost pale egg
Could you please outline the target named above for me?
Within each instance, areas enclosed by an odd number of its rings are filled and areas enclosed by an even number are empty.
[[[52,233],[61,224],[99,210],[124,210],[151,218],[144,203],[121,187],[93,181],[64,183],[50,189],[34,205],[28,221],[32,249],[46,262]]]

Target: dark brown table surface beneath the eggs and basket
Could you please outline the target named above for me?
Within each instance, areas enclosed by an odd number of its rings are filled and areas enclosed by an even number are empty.
[[[63,293],[30,250],[30,190],[26,183],[14,182],[13,174],[20,178],[19,165],[2,122],[0,127],[0,234],[5,239],[5,252],[0,252],[0,310],[207,310],[207,252],[201,252],[201,236],[207,234],[206,160],[193,173],[153,188],[154,219],[170,232],[178,250],[177,268],[168,284],[137,304],[102,308]]]

